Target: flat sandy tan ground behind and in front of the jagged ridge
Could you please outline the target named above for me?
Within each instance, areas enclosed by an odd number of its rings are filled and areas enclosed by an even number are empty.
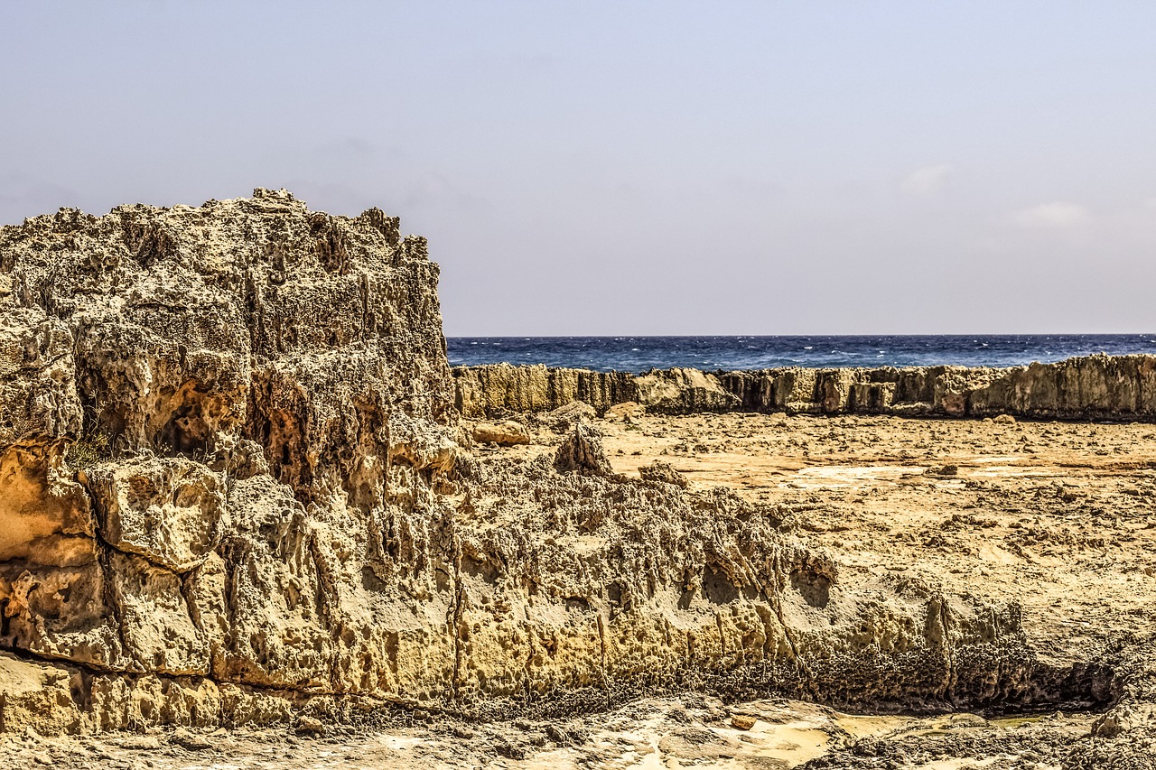
[[[784,415],[596,421],[617,472],[660,459],[692,486],[777,506],[792,536],[853,579],[904,570],[955,593],[1018,599],[1057,658],[1156,627],[1156,427]],[[553,452],[535,440],[482,457]],[[779,768],[873,738],[877,767],[1058,767],[1094,715],[840,715],[790,701],[646,699],[561,723],[284,727],[0,741],[12,768]],[[872,765],[875,767],[875,765]]]

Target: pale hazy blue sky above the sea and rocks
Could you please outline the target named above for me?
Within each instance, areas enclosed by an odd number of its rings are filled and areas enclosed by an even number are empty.
[[[15,2],[0,222],[254,186],[449,335],[1151,332],[1154,2]]]

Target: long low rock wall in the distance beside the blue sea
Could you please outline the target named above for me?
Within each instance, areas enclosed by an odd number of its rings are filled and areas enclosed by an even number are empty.
[[[598,414],[637,401],[657,414],[785,412],[1062,420],[1156,419],[1156,356],[1092,355],[1010,369],[692,369],[595,372],[495,364],[453,370],[465,416],[546,412],[580,384]]]

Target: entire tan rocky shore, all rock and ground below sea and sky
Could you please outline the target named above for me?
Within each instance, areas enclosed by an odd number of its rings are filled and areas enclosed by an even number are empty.
[[[1156,358],[451,371],[286,191],[0,228],[0,757],[1156,767]]]

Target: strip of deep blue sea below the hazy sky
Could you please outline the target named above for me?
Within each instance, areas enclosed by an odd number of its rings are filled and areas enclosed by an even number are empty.
[[[1091,353],[1156,354],[1156,334],[912,334],[862,336],[452,336],[450,363],[647,369],[1014,367]]]

